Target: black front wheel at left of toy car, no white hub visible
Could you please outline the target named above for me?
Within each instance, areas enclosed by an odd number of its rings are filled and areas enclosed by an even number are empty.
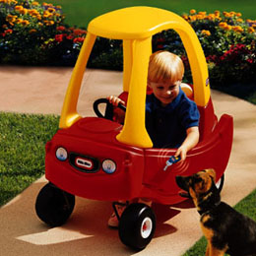
[[[35,212],[45,224],[59,226],[66,223],[74,206],[74,195],[48,183],[40,190],[36,198]]]

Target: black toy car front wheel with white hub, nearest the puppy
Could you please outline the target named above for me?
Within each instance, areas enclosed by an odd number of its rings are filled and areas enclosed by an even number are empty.
[[[144,249],[156,230],[156,217],[145,204],[131,204],[123,212],[119,223],[121,241],[135,250]]]

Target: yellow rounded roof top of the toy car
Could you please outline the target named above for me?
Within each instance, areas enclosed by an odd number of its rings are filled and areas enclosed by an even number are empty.
[[[88,31],[107,38],[140,39],[169,29],[177,20],[183,19],[159,8],[129,7],[96,17]]]

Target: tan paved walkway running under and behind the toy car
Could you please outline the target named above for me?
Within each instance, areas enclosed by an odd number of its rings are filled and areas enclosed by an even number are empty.
[[[60,114],[71,72],[70,68],[0,67],[0,111]],[[85,82],[79,110],[93,114],[96,98],[118,95],[122,73],[89,70]],[[216,91],[212,97],[218,116],[228,113],[234,118],[233,148],[222,193],[223,200],[234,205],[256,187],[256,105]],[[134,252],[121,244],[116,230],[106,227],[110,204],[82,198],[77,198],[67,224],[49,228],[34,213],[36,195],[45,182],[40,178],[0,209],[1,256],[179,256],[202,235],[199,215],[190,204],[156,205],[156,235],[145,250]]]

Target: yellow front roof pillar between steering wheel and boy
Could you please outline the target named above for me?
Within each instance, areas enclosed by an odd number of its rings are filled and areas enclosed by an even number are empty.
[[[152,52],[152,37],[134,42],[133,69],[129,88],[124,127],[116,139],[141,148],[152,148],[151,138],[145,127],[147,78]]]

